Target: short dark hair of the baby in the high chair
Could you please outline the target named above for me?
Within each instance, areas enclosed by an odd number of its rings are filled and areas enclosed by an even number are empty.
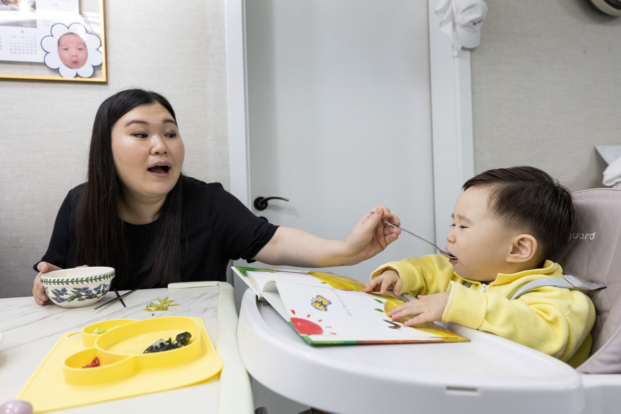
[[[571,191],[535,167],[496,168],[470,178],[463,185],[489,188],[489,208],[509,228],[525,228],[537,239],[537,257],[551,257],[561,247],[574,223]]]

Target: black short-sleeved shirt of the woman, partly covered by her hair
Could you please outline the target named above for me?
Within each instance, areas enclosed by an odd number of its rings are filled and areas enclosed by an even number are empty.
[[[252,213],[220,183],[183,179],[181,220],[181,278],[184,282],[226,280],[229,260],[252,258],[276,232],[278,226]],[[76,203],[84,184],[70,190],[60,206],[50,246],[41,261],[61,269],[88,263],[76,262]],[[125,246],[129,255],[129,274],[117,290],[138,288],[150,276],[136,274],[151,250],[157,234],[157,221],[149,224],[125,223]],[[39,264],[39,262],[37,262]],[[34,269],[37,270],[37,264]],[[89,264],[92,265],[92,264]],[[113,280],[114,283],[114,280]],[[165,287],[165,286],[160,286]]]

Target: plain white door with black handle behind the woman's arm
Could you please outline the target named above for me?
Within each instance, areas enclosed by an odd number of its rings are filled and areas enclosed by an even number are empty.
[[[246,52],[250,200],[290,200],[253,212],[345,239],[383,204],[433,239],[427,4],[247,1]],[[383,262],[430,252],[406,234],[328,270],[367,281]]]

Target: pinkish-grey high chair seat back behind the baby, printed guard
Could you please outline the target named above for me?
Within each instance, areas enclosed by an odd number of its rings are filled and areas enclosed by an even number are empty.
[[[596,309],[591,357],[578,371],[621,373],[621,190],[593,188],[573,193],[576,224],[553,257],[563,273],[608,287],[588,292]]]

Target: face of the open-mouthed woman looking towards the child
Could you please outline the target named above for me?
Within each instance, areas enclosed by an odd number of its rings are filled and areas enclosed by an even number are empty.
[[[112,126],[112,159],[125,191],[160,197],[175,186],[185,149],[177,124],[159,103],[136,106]]]

